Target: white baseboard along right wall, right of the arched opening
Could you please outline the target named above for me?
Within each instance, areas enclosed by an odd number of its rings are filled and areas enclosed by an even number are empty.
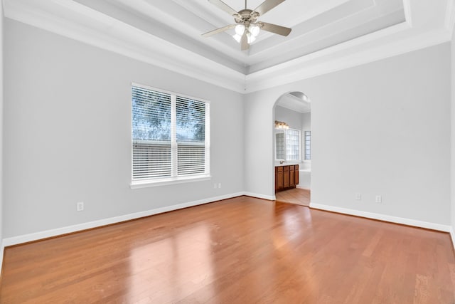
[[[380,221],[389,221],[389,222],[395,223],[395,224],[403,224],[403,225],[415,226],[415,227],[419,227],[419,228],[433,229],[433,230],[437,230],[437,231],[451,232],[453,230],[452,227],[449,225],[429,223],[427,221],[417,221],[415,219],[405,219],[405,218],[397,217],[397,216],[376,214],[373,212],[359,211],[359,210],[355,210],[355,209],[346,209],[346,208],[341,208],[341,207],[336,207],[336,206],[328,206],[328,205],[323,205],[323,204],[310,203],[310,208],[320,209],[320,210],[324,210],[324,211],[332,211],[332,212],[348,214],[348,215],[353,215],[353,216],[361,216],[361,217],[365,217],[368,219],[378,219]],[[452,234],[452,240],[454,240],[454,234]]]

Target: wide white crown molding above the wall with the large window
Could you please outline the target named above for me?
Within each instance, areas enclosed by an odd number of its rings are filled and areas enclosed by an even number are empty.
[[[4,0],[4,14],[9,19],[244,93],[245,74],[75,1]]]

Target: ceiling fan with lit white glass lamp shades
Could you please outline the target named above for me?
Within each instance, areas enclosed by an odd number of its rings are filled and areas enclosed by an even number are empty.
[[[256,36],[259,34],[260,29],[264,31],[269,31],[271,33],[277,33],[282,36],[288,36],[291,33],[291,28],[286,28],[284,26],[277,26],[276,24],[266,23],[258,21],[259,16],[264,15],[267,11],[270,11],[278,4],[281,4],[285,0],[265,0],[257,6],[256,9],[247,9],[247,0],[245,0],[245,9],[240,11],[235,11],[228,4],[225,4],[221,0],[208,0],[211,4],[218,6],[219,9],[230,14],[234,17],[235,24],[230,24],[228,26],[223,26],[222,28],[217,28],[213,31],[208,31],[203,33],[203,37],[210,37],[217,33],[222,33],[223,31],[228,31],[231,28],[235,28],[235,40],[240,43],[242,51],[246,51],[250,48],[250,43],[255,41]]]

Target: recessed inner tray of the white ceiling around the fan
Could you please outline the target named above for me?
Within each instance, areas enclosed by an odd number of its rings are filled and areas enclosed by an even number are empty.
[[[213,61],[249,74],[328,46],[405,22],[402,0],[287,0],[259,20],[292,28],[283,37],[262,31],[249,51],[240,51],[234,30],[203,38],[201,33],[235,23],[206,0],[75,0],[131,26]],[[243,0],[225,0],[232,9]],[[247,1],[255,9],[262,0]]]

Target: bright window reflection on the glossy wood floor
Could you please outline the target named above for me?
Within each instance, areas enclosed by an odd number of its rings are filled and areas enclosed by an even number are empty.
[[[212,246],[210,228],[198,224],[134,248],[129,261],[130,272],[136,275],[129,281],[129,294],[133,297],[129,300],[146,302],[153,298],[156,303],[164,303],[185,298],[198,286],[208,285],[213,279]],[[152,280],[157,277],[161,279]]]

